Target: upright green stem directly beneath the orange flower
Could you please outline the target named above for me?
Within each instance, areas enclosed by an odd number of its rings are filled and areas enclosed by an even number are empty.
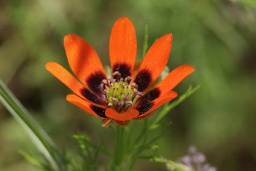
[[[123,161],[125,146],[124,146],[124,132],[125,129],[120,126],[116,126],[116,149],[114,151],[114,169],[120,170],[120,165]]]

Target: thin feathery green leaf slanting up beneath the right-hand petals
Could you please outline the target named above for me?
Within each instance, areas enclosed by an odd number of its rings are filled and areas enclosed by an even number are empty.
[[[158,114],[157,118],[152,122],[151,125],[157,125],[157,123],[163,119],[164,116],[166,116],[169,111],[173,110],[177,105],[179,105],[181,102],[183,102],[185,99],[189,98],[193,93],[196,92],[196,90],[199,89],[201,85],[196,86],[192,89],[192,86],[189,86],[189,89],[187,89],[187,92],[184,93],[184,95],[180,96],[176,101],[172,102],[171,104],[165,104],[163,109]],[[151,128],[152,129],[152,128]]]

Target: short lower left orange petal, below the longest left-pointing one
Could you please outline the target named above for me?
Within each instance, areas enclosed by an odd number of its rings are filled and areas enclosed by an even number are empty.
[[[105,107],[101,105],[90,104],[89,102],[84,101],[76,95],[67,95],[66,100],[82,108],[87,113],[93,114],[96,117],[100,117],[102,119],[107,118],[107,116],[105,116]]]

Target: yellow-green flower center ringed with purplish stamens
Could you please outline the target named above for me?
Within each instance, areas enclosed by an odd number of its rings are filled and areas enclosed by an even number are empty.
[[[134,82],[129,83],[130,78],[102,80],[104,95],[102,98],[107,105],[118,112],[128,110],[131,106],[136,104],[137,100],[142,96],[141,92],[137,90],[137,84]],[[110,84],[110,87],[107,86]]]

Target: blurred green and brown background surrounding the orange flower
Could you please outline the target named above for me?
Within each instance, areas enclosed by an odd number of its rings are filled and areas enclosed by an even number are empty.
[[[189,85],[201,84],[165,117],[172,125],[158,141],[157,155],[175,160],[193,144],[218,170],[255,170],[255,0],[0,1],[0,78],[54,141],[74,153],[76,141],[70,135],[86,132],[93,138],[96,130],[106,130],[100,119],[66,102],[70,90],[46,71],[45,64],[55,61],[70,70],[63,47],[69,33],[87,40],[102,63],[109,64],[111,26],[121,16],[134,23],[138,57],[146,24],[149,45],[173,34],[168,66],[195,67],[176,92],[182,95]],[[36,151],[0,104],[0,170],[36,170],[19,149]],[[134,170],[159,168],[164,164],[140,160]]]

